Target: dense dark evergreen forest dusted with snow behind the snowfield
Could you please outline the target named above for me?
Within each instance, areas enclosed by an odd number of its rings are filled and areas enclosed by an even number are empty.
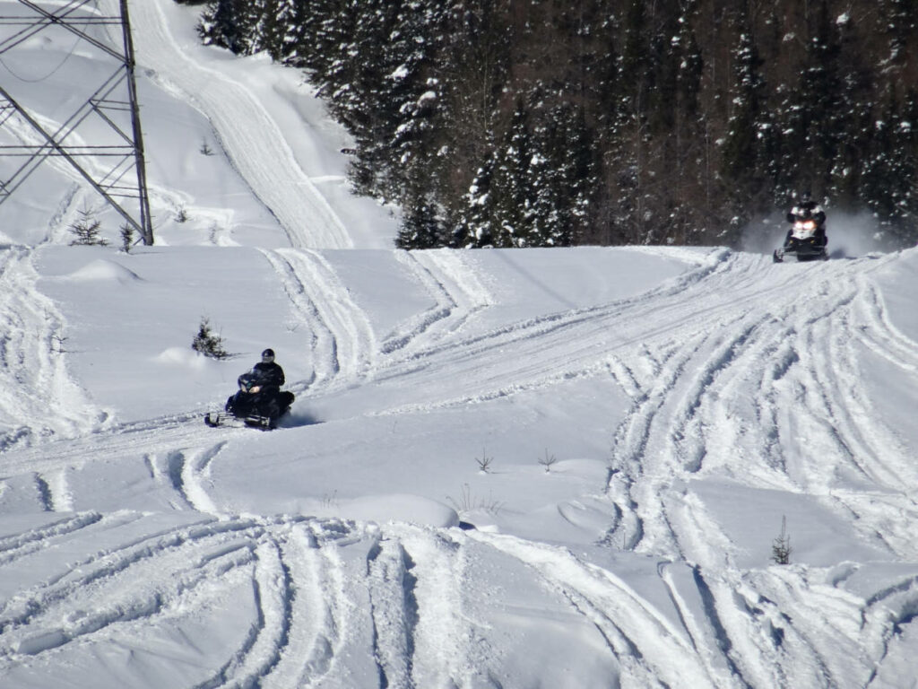
[[[811,192],[918,239],[918,0],[218,0],[404,247],[735,243]]]

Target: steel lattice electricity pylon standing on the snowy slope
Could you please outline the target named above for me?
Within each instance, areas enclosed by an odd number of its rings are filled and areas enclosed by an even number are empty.
[[[98,0],[69,0],[55,3],[53,9],[39,6],[32,0],[16,0],[20,14],[0,16],[0,62],[17,48],[24,47],[42,31],[61,30],[83,41],[89,51],[102,51],[112,58],[117,69],[98,85],[93,94],[77,107],[57,129],[50,130],[33,114],[17,102],[0,83],[0,133],[12,129],[15,123],[20,133],[17,143],[0,143],[0,160],[22,159],[12,167],[12,175],[0,176],[0,204],[21,186],[28,175],[39,165],[54,156],[73,167],[99,195],[140,234],[145,244],[153,243],[150,217],[150,198],[147,194],[147,175],[143,157],[143,137],[140,132],[140,108],[137,103],[137,84],[134,78],[134,44],[130,35],[128,0],[119,0],[120,16],[106,16],[98,10]],[[10,3],[6,3],[9,6]],[[47,3],[46,3],[47,5]],[[24,9],[23,9],[24,8]],[[4,13],[6,15],[6,13]],[[99,36],[115,28],[120,40],[103,40]],[[11,33],[11,35],[6,35]],[[95,35],[94,35],[95,34]],[[120,43],[119,45],[111,45]],[[69,57],[76,51],[74,45]],[[65,59],[66,62],[66,59]],[[97,61],[94,62],[97,65]],[[6,62],[3,62],[6,66]],[[62,63],[63,64],[63,63]],[[61,65],[57,69],[60,69]],[[12,74],[7,68],[6,72]],[[0,69],[0,82],[5,80]],[[35,80],[28,80],[35,81]],[[40,81],[40,80],[38,80]],[[80,86],[92,88],[92,78],[80,80]],[[94,117],[95,116],[95,117]],[[86,140],[79,132],[81,125],[95,120],[87,128],[91,138]],[[93,141],[100,128],[106,131],[106,141]],[[25,131],[25,134],[22,132]],[[15,134],[15,132],[14,132]],[[28,140],[28,141],[24,141]],[[6,161],[9,162],[8,160]],[[16,164],[20,163],[20,164]],[[130,173],[136,175],[136,184]],[[119,199],[132,199],[129,208]]]

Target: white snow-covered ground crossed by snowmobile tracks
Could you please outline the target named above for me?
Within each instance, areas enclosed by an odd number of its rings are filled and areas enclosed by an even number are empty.
[[[0,686],[918,683],[918,249],[399,252],[301,75],[131,13],[157,243],[0,205]],[[30,41],[61,122],[104,60]]]

